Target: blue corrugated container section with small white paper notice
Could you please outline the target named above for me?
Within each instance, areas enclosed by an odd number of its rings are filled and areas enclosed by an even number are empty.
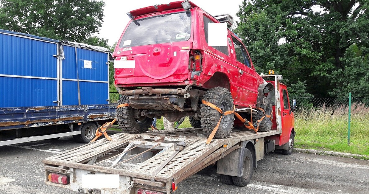
[[[108,53],[64,45],[62,60],[63,105],[78,105],[77,73],[82,105],[108,104]],[[91,68],[85,67],[91,61]],[[68,80],[66,80],[68,79]]]

